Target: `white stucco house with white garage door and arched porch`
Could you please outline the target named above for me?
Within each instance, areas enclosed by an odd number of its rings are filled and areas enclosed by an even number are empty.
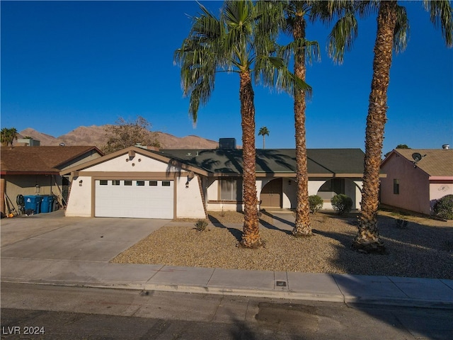
[[[309,149],[309,195],[345,193],[360,207],[365,154]],[[295,208],[294,149],[257,149],[260,208]],[[71,177],[67,216],[205,218],[207,210],[242,210],[242,150],[128,147],[60,174]]]

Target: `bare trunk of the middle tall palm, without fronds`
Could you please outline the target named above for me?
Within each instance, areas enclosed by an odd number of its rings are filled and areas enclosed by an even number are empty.
[[[305,38],[305,19],[296,16],[293,29],[294,40]],[[294,74],[305,81],[305,51],[301,49],[294,53]],[[294,128],[296,130],[296,179],[297,205],[296,222],[292,234],[296,237],[310,236],[310,207],[308,191],[308,169],[306,166],[306,137],[305,137],[305,94],[304,91],[294,91]]]

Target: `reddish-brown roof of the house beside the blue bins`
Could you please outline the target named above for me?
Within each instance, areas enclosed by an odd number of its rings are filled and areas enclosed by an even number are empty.
[[[1,174],[59,174],[64,164],[96,147],[1,147]]]

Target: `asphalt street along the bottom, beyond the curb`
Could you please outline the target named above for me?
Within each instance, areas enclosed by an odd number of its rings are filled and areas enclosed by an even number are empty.
[[[450,340],[452,320],[430,308],[1,285],[1,339]]]

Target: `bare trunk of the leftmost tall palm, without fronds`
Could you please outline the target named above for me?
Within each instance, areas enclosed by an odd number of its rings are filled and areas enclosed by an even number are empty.
[[[239,98],[241,100],[242,152],[243,152],[243,202],[244,222],[241,246],[262,246],[258,224],[258,199],[256,198],[256,149],[255,106],[249,72],[241,72]]]

